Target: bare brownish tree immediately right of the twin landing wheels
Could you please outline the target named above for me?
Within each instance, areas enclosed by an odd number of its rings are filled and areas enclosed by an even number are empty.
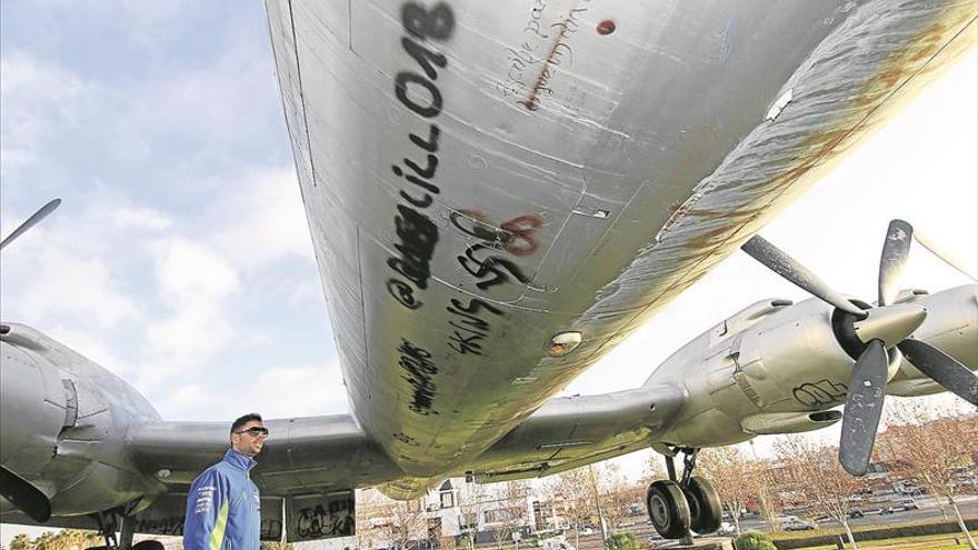
[[[702,449],[697,456],[697,464],[713,482],[720,501],[734,517],[737,534],[740,534],[740,510],[747,508],[748,500],[757,492],[752,483],[757,464],[732,446]]]

